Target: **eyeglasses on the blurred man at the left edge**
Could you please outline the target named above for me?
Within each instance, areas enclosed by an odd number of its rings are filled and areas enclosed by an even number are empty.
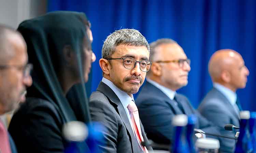
[[[0,69],[8,69],[8,68],[16,68],[18,70],[21,70],[23,72],[23,77],[27,78],[30,76],[30,72],[33,69],[32,64],[26,64],[26,65],[0,65]]]

